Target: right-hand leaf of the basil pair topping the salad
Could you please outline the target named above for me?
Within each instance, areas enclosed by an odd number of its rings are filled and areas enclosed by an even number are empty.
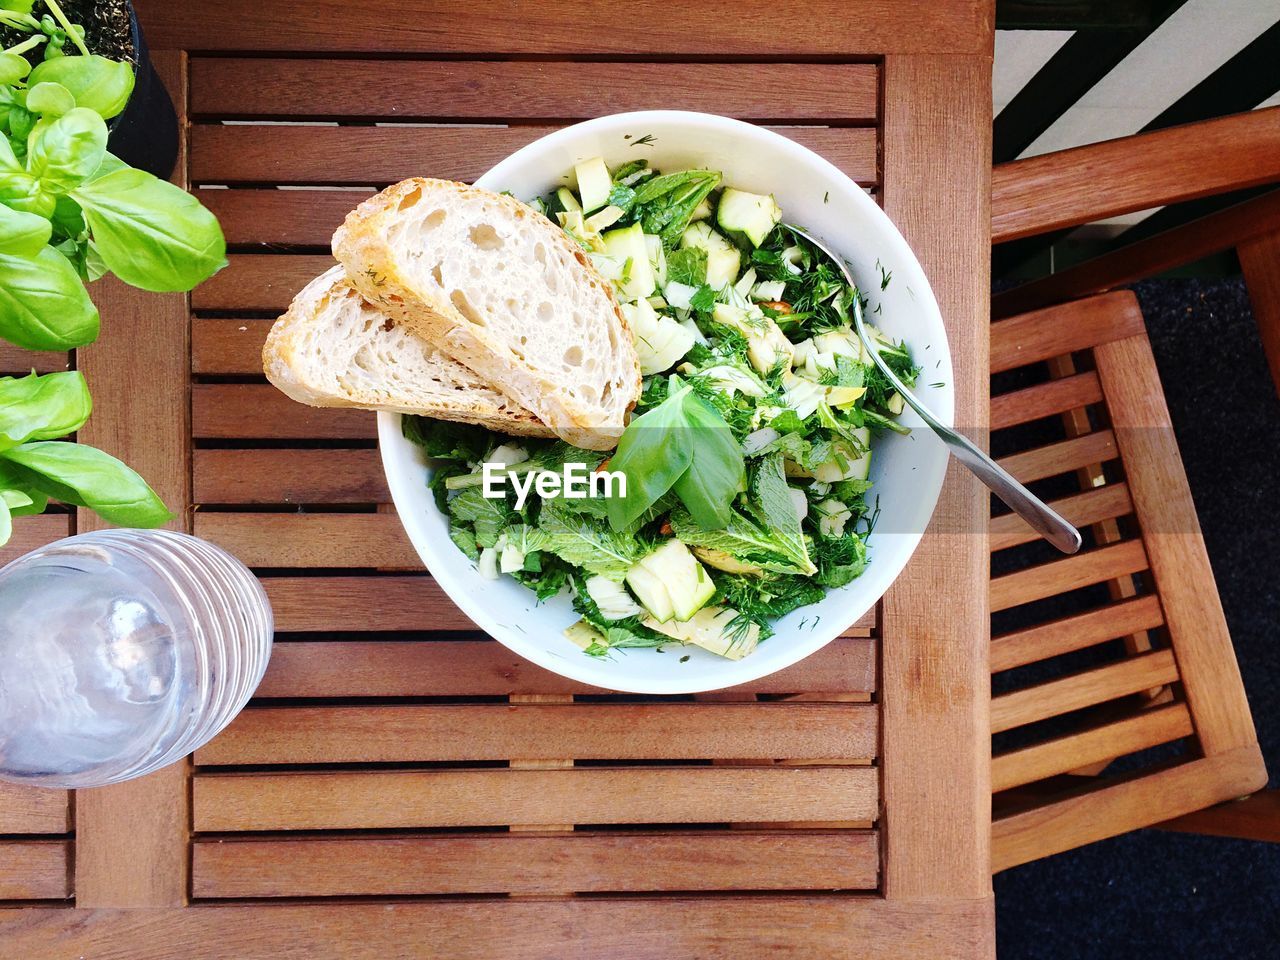
[[[676,495],[700,527],[717,530],[728,522],[733,498],[746,486],[742,448],[719,411],[696,393],[685,396],[684,412],[694,457],[676,480]]]

